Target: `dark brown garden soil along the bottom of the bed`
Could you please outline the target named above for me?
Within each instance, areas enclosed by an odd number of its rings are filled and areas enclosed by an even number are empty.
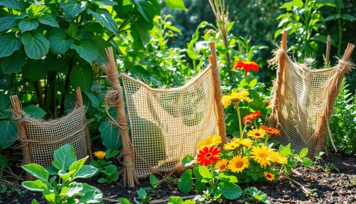
[[[294,173],[288,175],[289,178],[303,185],[304,189],[309,191],[309,195],[305,194],[295,182],[287,179],[280,179],[270,183],[254,183],[250,186],[255,186],[259,190],[262,190],[273,203],[356,203],[356,156],[331,156],[325,158],[320,166],[324,168],[324,164],[327,163],[334,164],[340,172],[335,170],[325,172],[321,168],[313,170],[298,167]],[[25,177],[24,172],[20,168],[15,166],[12,167],[12,170],[15,173],[17,172],[19,176]],[[179,175],[173,174],[171,176],[173,179],[170,180],[176,182]],[[159,179],[164,177],[163,175],[157,176]],[[99,188],[104,193],[104,197],[106,198],[104,200],[105,203],[115,203],[114,201],[121,197],[125,197],[134,203],[137,196],[136,191],[141,187],[150,186],[148,179],[141,180],[141,185],[135,188],[123,187],[121,180],[112,183],[112,185],[106,185],[98,183],[97,179],[98,177],[94,177],[82,180],[81,182],[87,182]],[[20,185],[20,181],[15,181],[11,178],[8,180]],[[241,188],[247,187],[247,185],[240,186]],[[33,198],[40,201],[40,203],[46,203],[46,201],[41,199],[41,194],[24,190],[22,187],[18,188],[21,189],[22,193],[8,192],[1,194],[0,203],[31,203]],[[152,200],[168,198],[169,196],[193,196],[196,194],[196,192],[192,192],[191,194],[181,193],[177,189],[176,184],[168,184],[166,182],[162,182],[159,189],[161,192],[154,196]],[[313,189],[315,190],[313,191]]]

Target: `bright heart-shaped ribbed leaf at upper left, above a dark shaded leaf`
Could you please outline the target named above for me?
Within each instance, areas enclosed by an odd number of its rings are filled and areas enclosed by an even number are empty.
[[[41,33],[32,35],[26,32],[21,36],[21,41],[25,45],[25,51],[28,57],[40,59],[48,53],[50,42]]]

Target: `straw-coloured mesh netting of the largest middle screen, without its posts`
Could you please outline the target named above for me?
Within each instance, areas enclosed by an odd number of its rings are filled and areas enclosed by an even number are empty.
[[[174,89],[151,89],[121,74],[138,177],[181,167],[199,140],[218,133],[211,71]]]

